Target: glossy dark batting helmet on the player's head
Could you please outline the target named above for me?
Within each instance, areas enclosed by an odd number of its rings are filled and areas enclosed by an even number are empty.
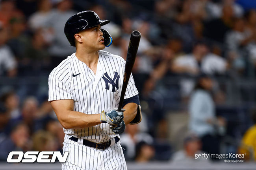
[[[64,27],[64,33],[71,46],[75,46],[74,35],[84,29],[97,25],[104,26],[109,20],[100,20],[100,17],[93,11],[83,11],[71,16]]]

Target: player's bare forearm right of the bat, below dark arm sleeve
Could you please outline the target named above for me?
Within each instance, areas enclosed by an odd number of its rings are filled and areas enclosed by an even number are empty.
[[[137,114],[138,105],[136,103],[127,103],[124,107],[124,123],[130,123]]]

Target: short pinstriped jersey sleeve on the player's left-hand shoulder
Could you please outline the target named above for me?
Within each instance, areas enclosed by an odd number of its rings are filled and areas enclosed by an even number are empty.
[[[48,79],[49,98],[48,101],[73,99],[72,91],[70,89],[70,75],[67,69],[61,71],[54,69]]]

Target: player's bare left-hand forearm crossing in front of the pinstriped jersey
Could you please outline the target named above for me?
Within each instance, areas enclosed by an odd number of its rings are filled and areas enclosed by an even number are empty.
[[[66,116],[59,119],[59,122],[65,129],[87,128],[100,124],[100,114],[88,115],[81,112],[67,111]]]

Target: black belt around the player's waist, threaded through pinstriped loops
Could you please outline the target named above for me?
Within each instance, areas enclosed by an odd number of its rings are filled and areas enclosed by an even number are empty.
[[[76,138],[74,136],[70,137],[69,139],[72,140],[72,141],[75,141],[75,142],[78,141],[78,138]],[[119,137],[117,137],[117,136],[114,139],[115,139],[115,143],[117,143],[120,140]],[[93,148],[96,148],[96,149],[103,149],[104,150],[104,149],[108,148],[110,146],[110,144],[111,144],[110,140],[108,142],[104,142],[104,143],[95,143],[95,142],[91,142],[91,141],[88,141],[86,139],[83,139],[83,145],[90,146],[90,147],[93,147]]]

